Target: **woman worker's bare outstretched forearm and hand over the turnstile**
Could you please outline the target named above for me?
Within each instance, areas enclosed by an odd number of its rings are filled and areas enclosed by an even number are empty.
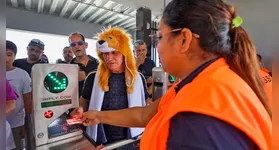
[[[83,114],[82,120],[86,126],[104,123],[120,127],[145,127],[157,113],[159,102],[160,100],[157,100],[145,107],[132,107],[122,110],[91,110]]]

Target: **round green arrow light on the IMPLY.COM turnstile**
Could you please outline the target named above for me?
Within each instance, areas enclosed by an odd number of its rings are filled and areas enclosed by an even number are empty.
[[[44,80],[46,89],[51,93],[63,92],[68,86],[68,78],[62,72],[51,72]]]

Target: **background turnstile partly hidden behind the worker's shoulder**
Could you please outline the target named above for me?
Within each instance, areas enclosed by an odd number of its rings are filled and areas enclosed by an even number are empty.
[[[152,69],[152,100],[161,98],[168,88],[176,82],[176,78],[163,71],[161,67]]]

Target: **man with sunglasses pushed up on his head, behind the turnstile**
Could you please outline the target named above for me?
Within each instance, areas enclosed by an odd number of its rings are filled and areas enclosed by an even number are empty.
[[[33,39],[27,46],[27,58],[17,59],[13,66],[25,70],[31,77],[32,67],[37,63],[48,63],[41,59],[45,49],[45,44],[39,39]]]

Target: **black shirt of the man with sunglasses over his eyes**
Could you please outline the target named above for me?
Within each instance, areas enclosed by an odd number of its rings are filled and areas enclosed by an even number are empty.
[[[81,63],[76,63],[75,62],[76,58],[73,58],[71,60],[70,64],[77,64],[79,66],[80,70],[84,71],[85,75],[87,76],[90,72],[96,71],[97,68],[98,68],[98,65],[99,65],[99,61],[96,58],[94,58],[90,55],[88,55],[88,57],[89,57],[89,61],[88,61],[86,66],[81,64]],[[79,95],[79,97],[82,94],[83,85],[84,85],[84,81],[79,81],[78,82],[78,95]]]

